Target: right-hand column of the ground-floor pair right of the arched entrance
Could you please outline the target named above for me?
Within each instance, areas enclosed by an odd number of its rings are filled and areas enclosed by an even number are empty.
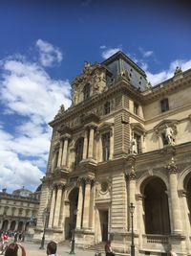
[[[92,179],[85,178],[85,195],[84,195],[84,209],[83,209],[83,228],[89,228],[90,219],[90,193],[91,193]]]

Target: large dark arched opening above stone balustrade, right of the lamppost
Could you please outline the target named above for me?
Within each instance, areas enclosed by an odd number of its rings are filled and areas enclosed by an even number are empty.
[[[159,177],[146,180],[142,186],[144,195],[146,234],[170,234],[170,218],[166,185]]]

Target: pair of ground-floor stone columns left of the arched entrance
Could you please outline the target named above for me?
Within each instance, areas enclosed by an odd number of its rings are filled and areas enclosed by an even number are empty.
[[[63,184],[53,185],[53,195],[51,200],[51,210],[49,216],[49,228],[58,227],[60,220],[60,211],[63,198]]]

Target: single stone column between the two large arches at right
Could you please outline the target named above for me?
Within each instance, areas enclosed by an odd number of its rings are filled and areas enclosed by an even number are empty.
[[[171,199],[171,212],[173,222],[173,233],[180,234],[181,232],[181,218],[180,218],[180,201],[178,196],[178,168],[172,157],[171,163],[167,166],[169,171],[169,183],[170,183],[170,199]]]

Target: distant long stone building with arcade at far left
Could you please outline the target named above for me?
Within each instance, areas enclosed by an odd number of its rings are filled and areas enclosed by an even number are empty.
[[[40,199],[40,186],[32,193],[18,189],[9,194],[6,189],[0,192],[0,230],[28,231],[30,221],[37,218]]]

